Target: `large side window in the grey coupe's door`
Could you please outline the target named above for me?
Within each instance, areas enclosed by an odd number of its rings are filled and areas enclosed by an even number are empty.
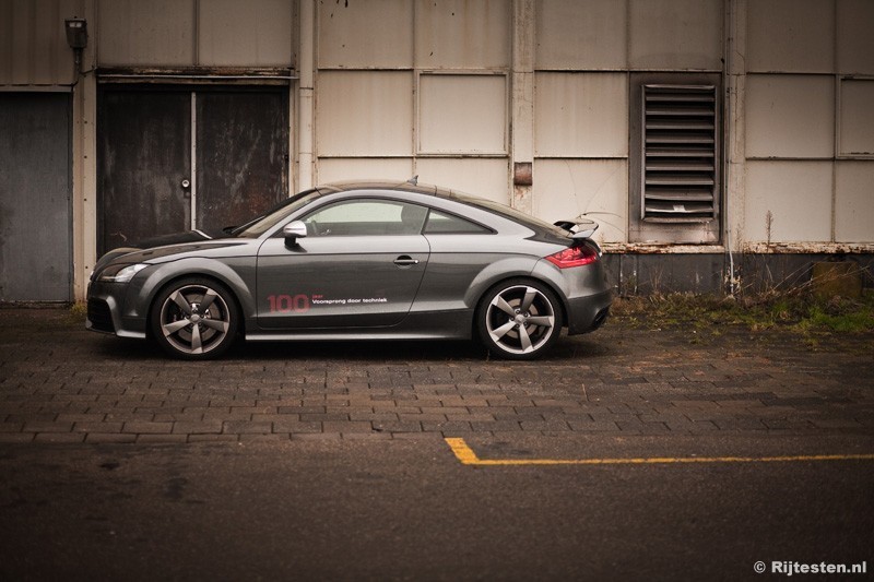
[[[346,200],[304,218],[309,236],[418,235],[428,210],[394,200]]]

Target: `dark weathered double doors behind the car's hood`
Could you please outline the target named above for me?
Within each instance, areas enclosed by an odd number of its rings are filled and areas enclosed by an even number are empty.
[[[286,87],[104,86],[97,251],[215,231],[288,195]]]

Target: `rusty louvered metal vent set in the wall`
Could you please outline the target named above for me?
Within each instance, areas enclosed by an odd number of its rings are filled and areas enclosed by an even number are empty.
[[[716,218],[717,95],[712,85],[643,85],[643,219]]]

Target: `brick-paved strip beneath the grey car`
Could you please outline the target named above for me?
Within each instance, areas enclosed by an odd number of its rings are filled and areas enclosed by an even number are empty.
[[[63,309],[0,309],[0,442],[874,432],[874,334],[611,321],[534,363],[380,342],[190,364]]]

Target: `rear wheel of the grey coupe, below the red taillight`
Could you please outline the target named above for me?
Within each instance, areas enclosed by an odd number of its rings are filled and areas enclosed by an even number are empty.
[[[562,308],[555,293],[531,280],[495,285],[480,300],[476,326],[488,351],[506,359],[534,359],[562,333]]]

